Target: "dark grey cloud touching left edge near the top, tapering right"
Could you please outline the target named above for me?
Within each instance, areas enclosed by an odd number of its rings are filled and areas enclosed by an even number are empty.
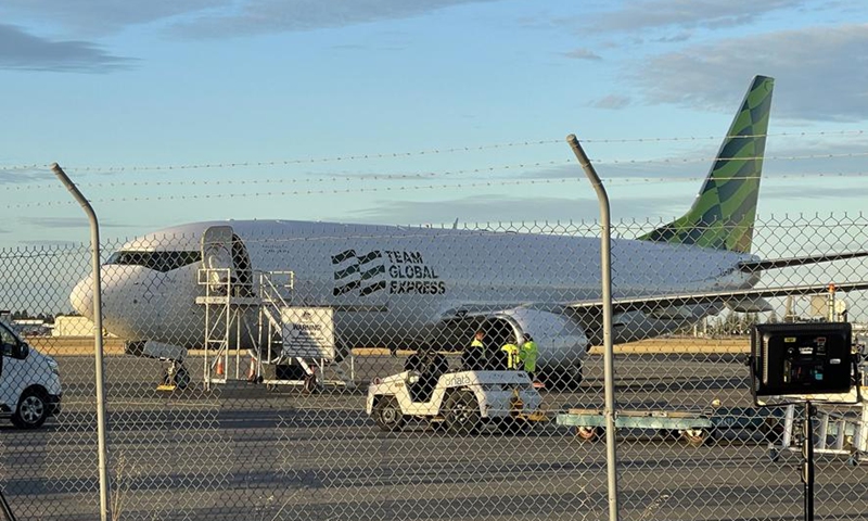
[[[129,59],[113,56],[86,41],[50,41],[0,24],[0,69],[108,73],[129,65]]]

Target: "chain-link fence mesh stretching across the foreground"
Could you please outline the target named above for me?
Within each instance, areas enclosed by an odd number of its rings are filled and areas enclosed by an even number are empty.
[[[210,225],[102,244],[112,519],[608,518],[598,224]],[[767,218],[750,254],[614,226],[622,519],[801,518],[788,411],[753,405],[746,334],[858,331],[864,293],[820,290],[868,259],[816,256],[863,250],[867,227]],[[18,519],[100,516],[89,255],[0,252]],[[761,263],[792,257],[813,258]],[[842,452],[817,456],[818,519],[868,518],[860,411],[825,431]]]

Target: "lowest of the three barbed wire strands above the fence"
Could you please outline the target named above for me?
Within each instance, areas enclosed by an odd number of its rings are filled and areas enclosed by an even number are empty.
[[[839,174],[802,174],[802,175],[780,175],[780,176],[762,176],[766,181],[779,179],[794,179],[794,178],[868,178],[868,171],[859,173],[839,173]],[[731,179],[758,179],[757,176],[732,177]],[[629,177],[629,178],[605,178],[604,182],[612,183],[661,183],[661,182],[698,182],[705,179],[705,177]],[[270,196],[289,196],[289,195],[326,195],[326,194],[342,194],[342,193],[373,193],[373,192],[407,192],[407,191],[423,191],[423,190],[449,190],[449,189],[469,189],[481,187],[503,187],[503,186],[522,186],[522,185],[553,185],[566,182],[586,182],[584,177],[557,177],[544,179],[490,179],[486,181],[474,182],[460,182],[460,183],[443,183],[443,185],[414,185],[414,186],[396,186],[396,187],[357,187],[346,189],[318,189],[318,190],[282,190],[272,192],[226,192],[226,193],[208,193],[208,194],[171,194],[171,195],[151,195],[151,196],[132,196],[132,198],[94,198],[90,199],[91,203],[136,203],[136,202],[151,202],[151,201],[191,201],[191,200],[219,200],[219,199],[235,199],[235,198],[270,198]],[[7,205],[8,208],[29,208],[38,206],[64,206],[77,204],[73,200],[64,201],[36,201],[29,203],[18,203]]]

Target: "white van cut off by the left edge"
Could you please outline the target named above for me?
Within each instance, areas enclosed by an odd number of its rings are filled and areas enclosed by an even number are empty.
[[[61,410],[61,376],[54,358],[30,347],[0,321],[0,418],[36,429]]]

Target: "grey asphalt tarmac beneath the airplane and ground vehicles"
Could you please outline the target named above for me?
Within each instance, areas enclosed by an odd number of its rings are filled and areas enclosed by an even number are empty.
[[[64,411],[38,431],[0,427],[2,484],[18,519],[98,519],[93,359],[87,342],[44,347],[61,365]],[[358,351],[359,389],[304,394],[246,382],[206,390],[193,353],[193,385],[158,392],[162,364],[116,350],[107,343],[105,373],[120,519],[608,519],[604,444],[583,443],[574,429],[551,421],[527,435],[488,428],[452,436],[421,422],[378,430],[365,414],[363,382],[397,372],[400,356]],[[740,352],[637,353],[616,357],[618,407],[751,405]],[[580,390],[545,391],[545,407],[551,417],[600,408],[602,383],[592,355]],[[771,461],[758,433],[690,447],[623,431],[617,455],[622,519],[801,519],[800,456]],[[818,458],[818,519],[866,519],[866,497],[868,466]]]

